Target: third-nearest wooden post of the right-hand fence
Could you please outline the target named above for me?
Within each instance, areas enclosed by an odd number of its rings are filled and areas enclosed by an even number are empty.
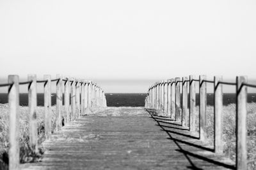
[[[206,82],[203,81],[206,80],[205,75],[200,75],[199,76],[199,101],[200,101],[200,106],[199,106],[199,118],[200,118],[200,139],[202,141],[205,141],[206,139],[206,104],[207,104],[207,90],[206,90]]]

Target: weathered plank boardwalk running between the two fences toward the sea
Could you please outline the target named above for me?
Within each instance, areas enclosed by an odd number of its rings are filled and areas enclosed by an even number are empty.
[[[173,125],[168,118],[150,116],[143,108],[107,108],[63,127],[60,132],[53,134],[49,141],[44,142],[46,151],[42,162],[23,164],[22,167],[24,169],[233,167],[222,157],[213,157],[212,152],[195,147],[200,143],[194,142],[198,141],[197,139],[188,138],[189,135],[188,131],[180,130],[180,126]]]

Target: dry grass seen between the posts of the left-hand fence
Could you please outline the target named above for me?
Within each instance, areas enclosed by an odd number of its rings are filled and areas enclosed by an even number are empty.
[[[37,127],[38,127],[38,149],[39,153],[33,153],[29,146],[29,111],[28,107],[20,106],[20,163],[24,162],[36,162],[41,159],[44,148],[40,145],[44,141],[44,107],[37,107]],[[52,131],[54,131],[56,125],[56,106],[52,106]],[[4,166],[8,163],[8,104],[0,104],[0,169],[6,168]]]

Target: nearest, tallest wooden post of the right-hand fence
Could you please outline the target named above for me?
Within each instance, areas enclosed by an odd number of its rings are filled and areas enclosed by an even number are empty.
[[[247,82],[246,76],[236,77],[236,168],[247,169],[247,129],[246,129],[246,103],[247,103],[247,87],[243,83]]]

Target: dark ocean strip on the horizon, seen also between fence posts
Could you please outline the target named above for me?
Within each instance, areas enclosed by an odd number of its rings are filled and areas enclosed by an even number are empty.
[[[131,106],[131,107],[143,107],[145,105],[145,97],[147,94],[123,94],[113,93],[106,94],[107,105],[113,107]],[[247,97],[248,103],[256,103],[256,94],[250,93]],[[0,103],[8,103],[8,95],[0,94]],[[236,103],[236,94],[223,94],[223,104]],[[52,105],[56,104],[56,94],[52,94]],[[64,104],[64,101],[63,101]],[[196,94],[196,105],[199,104],[199,96]],[[37,105],[44,106],[44,94],[37,94]],[[214,105],[214,95],[207,94],[207,105]],[[28,106],[28,94],[20,94],[20,106]]]

